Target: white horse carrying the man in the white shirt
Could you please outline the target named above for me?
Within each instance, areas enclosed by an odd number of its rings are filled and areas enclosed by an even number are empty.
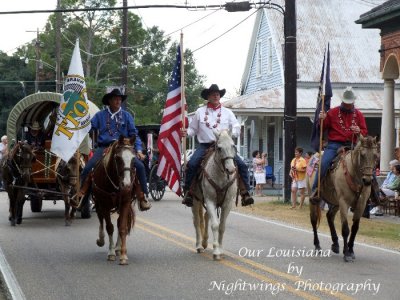
[[[234,163],[236,148],[229,131],[213,130],[213,132],[217,139],[215,149],[206,155],[202,163],[200,180],[195,184],[193,191],[197,201],[193,203],[192,213],[197,253],[207,248],[208,221],[210,221],[214,237],[213,257],[214,260],[220,260],[223,254],[222,239],[226,218],[238,189],[237,169]],[[206,208],[204,214],[203,205]]]

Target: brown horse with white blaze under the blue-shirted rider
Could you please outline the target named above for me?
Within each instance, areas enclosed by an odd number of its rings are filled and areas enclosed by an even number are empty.
[[[114,225],[111,213],[118,212],[118,240],[120,246],[120,265],[128,264],[126,236],[135,223],[135,211],[132,202],[135,199],[134,182],[135,169],[133,168],[134,138],[121,137],[106,151],[107,154],[93,170],[92,195],[96,206],[96,213],[100,221],[99,239],[97,245],[104,246],[104,227],[109,239],[108,260],[116,258],[116,247],[113,240]]]

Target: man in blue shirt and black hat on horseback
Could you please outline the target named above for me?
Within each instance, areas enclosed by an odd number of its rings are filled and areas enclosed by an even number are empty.
[[[142,141],[138,135],[135,127],[133,116],[122,109],[122,102],[125,101],[127,95],[123,95],[119,89],[113,89],[110,93],[103,96],[102,102],[106,105],[105,109],[97,112],[91,120],[91,131],[98,133],[97,136],[97,149],[95,150],[92,158],[87,162],[85,168],[81,173],[81,186],[82,189],[79,197],[84,196],[90,181],[88,174],[95,167],[96,163],[103,157],[104,150],[110,146],[114,141],[118,140],[120,135],[124,137],[136,136],[135,150],[137,157],[135,157],[133,165],[136,168],[141,191],[138,193],[138,200],[140,203],[140,210],[148,210],[151,207],[148,201],[149,191],[147,189],[146,171],[143,164],[145,155],[142,153]],[[139,157],[139,159],[138,159]]]

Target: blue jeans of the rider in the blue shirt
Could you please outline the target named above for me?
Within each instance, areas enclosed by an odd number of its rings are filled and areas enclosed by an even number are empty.
[[[81,185],[85,182],[90,171],[92,171],[92,169],[96,166],[96,163],[103,157],[103,152],[105,148],[107,147],[98,147],[93,153],[92,158],[89,159],[89,161],[86,163],[85,168],[83,168],[81,172]],[[147,177],[144,164],[140,159],[135,157],[133,165],[136,168],[136,174],[139,179],[140,186],[142,187],[142,191],[146,196],[148,196],[149,190],[147,188]]]

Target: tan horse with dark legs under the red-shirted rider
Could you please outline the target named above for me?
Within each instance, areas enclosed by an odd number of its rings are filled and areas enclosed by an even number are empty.
[[[340,210],[343,254],[346,262],[355,259],[353,250],[354,241],[359,228],[360,218],[371,194],[371,182],[376,158],[376,138],[370,136],[364,138],[360,136],[354,150],[344,154],[334,169],[330,170],[325,178],[321,178],[320,196],[329,205],[326,216],[333,241],[331,250],[334,253],[339,253],[339,242],[334,221],[336,213]],[[315,173],[313,174],[314,176]],[[310,178],[309,182],[313,182],[313,179]],[[347,221],[349,208],[353,211],[351,234]],[[319,203],[310,203],[310,219],[314,232],[315,249],[321,250],[317,232],[317,227],[321,219]]]

